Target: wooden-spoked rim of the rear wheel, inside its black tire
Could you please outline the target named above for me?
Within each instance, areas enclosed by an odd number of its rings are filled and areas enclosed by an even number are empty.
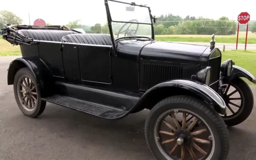
[[[28,76],[22,76],[17,85],[17,92],[23,108],[27,111],[33,111],[38,102],[38,94],[34,82]]]

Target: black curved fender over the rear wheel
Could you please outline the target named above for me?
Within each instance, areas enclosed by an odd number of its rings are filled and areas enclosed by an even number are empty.
[[[14,77],[20,68],[28,67],[32,74],[35,76],[36,83],[41,92],[41,96],[49,95],[54,86],[54,81],[49,68],[40,58],[34,57],[21,57],[16,58],[9,63],[7,74],[7,84],[14,84]]]

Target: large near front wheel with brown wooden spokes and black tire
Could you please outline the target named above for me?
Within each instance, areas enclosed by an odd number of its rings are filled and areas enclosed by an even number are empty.
[[[226,160],[229,151],[221,116],[189,96],[158,102],[145,122],[145,139],[157,160]]]

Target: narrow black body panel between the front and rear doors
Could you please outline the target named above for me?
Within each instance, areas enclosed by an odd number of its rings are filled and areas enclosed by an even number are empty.
[[[70,82],[81,82],[78,44],[62,43],[62,55],[65,79]]]

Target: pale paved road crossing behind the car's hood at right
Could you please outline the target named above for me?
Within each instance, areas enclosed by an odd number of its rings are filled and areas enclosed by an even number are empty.
[[[210,42],[205,43],[205,42],[180,42],[180,43],[186,43],[186,44],[199,44],[199,45],[210,45]],[[232,49],[236,49],[236,44],[227,44],[227,43],[218,43],[216,42],[215,47],[218,47],[219,49],[221,49],[221,51],[223,50],[223,45],[225,45],[225,50],[232,50]],[[244,49],[245,44],[238,44],[237,49]],[[256,44],[247,44],[246,46],[247,50],[256,50]]]

